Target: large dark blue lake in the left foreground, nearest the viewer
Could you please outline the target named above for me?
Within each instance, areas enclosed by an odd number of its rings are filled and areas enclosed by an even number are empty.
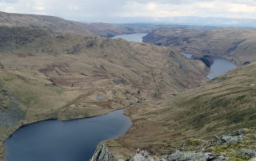
[[[124,135],[123,110],[80,120],[46,120],[19,128],[5,143],[5,161],[85,161],[99,142]]]

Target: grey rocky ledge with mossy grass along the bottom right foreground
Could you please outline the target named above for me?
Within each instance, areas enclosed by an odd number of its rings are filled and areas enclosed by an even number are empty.
[[[185,160],[255,160],[256,128],[244,128],[229,135],[214,135],[214,140],[186,139],[182,147],[164,157],[151,157],[146,151],[136,151],[127,161],[185,161]],[[91,161],[121,161],[112,155],[104,143],[98,145]]]

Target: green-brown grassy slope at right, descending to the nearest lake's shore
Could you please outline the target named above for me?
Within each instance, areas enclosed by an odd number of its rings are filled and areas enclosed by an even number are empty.
[[[256,83],[255,72],[256,63],[242,66],[162,103],[127,109],[134,126],[110,141],[110,149],[124,156],[137,147],[167,155],[188,138],[213,139],[215,134],[254,127],[256,85],[250,84]]]

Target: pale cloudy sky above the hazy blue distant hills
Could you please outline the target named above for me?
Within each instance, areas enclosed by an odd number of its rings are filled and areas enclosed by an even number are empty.
[[[256,0],[0,0],[0,10],[79,21],[199,16],[256,18]]]

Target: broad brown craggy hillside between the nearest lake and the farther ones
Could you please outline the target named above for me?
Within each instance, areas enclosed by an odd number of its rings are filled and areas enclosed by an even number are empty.
[[[156,45],[17,26],[0,35],[1,147],[24,124],[98,116],[207,80],[202,62]]]

